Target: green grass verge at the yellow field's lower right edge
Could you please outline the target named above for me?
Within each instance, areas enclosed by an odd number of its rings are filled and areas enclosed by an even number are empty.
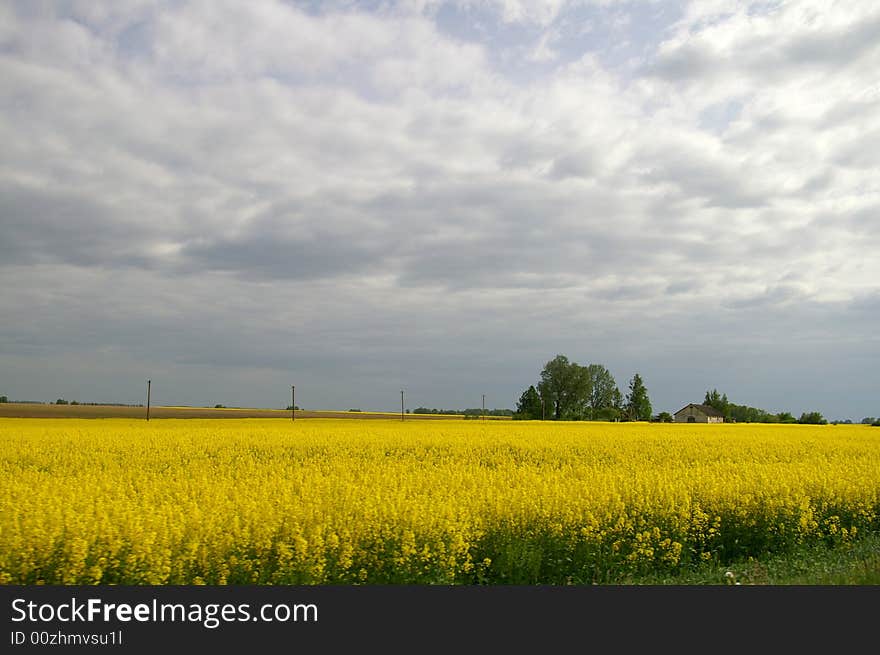
[[[728,573],[730,575],[728,575]],[[612,584],[635,585],[880,585],[880,534],[852,544],[813,546],[753,557],[726,566],[703,564],[677,574],[627,576]]]

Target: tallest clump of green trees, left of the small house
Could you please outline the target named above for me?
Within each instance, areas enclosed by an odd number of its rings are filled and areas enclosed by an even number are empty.
[[[582,366],[557,355],[544,365],[537,385],[523,391],[514,418],[526,420],[651,420],[651,401],[636,373],[624,396],[602,364]]]

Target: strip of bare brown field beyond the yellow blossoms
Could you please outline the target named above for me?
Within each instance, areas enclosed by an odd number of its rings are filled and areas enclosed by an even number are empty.
[[[0,417],[9,418],[146,418],[146,407],[118,405],[39,405],[0,403]],[[349,412],[342,410],[297,410],[296,418],[400,418],[394,412]],[[150,418],[286,418],[289,409],[247,407],[150,407]],[[460,419],[459,414],[407,414],[406,420]],[[486,416],[486,420],[509,420],[507,416]]]

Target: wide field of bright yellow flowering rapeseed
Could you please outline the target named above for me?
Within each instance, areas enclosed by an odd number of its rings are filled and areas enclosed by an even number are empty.
[[[0,583],[589,584],[880,529],[880,429],[0,419]]]

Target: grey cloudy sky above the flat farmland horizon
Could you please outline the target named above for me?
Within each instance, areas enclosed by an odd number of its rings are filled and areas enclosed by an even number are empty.
[[[880,415],[880,3],[0,4],[0,394]]]

